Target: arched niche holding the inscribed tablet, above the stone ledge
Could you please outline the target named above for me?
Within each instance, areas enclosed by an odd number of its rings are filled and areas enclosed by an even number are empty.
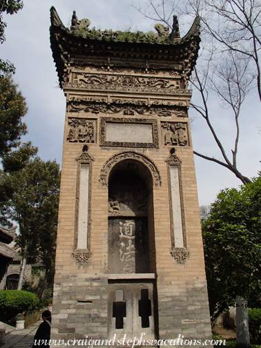
[[[108,273],[155,272],[153,177],[126,159],[108,175]]]

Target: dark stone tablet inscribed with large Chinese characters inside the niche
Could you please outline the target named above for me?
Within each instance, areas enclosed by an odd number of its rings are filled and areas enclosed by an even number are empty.
[[[109,273],[149,273],[147,218],[108,219]]]

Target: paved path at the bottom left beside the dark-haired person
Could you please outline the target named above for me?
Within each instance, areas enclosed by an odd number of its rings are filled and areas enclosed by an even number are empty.
[[[41,324],[42,320],[39,320],[36,324],[29,327],[29,329],[23,329],[16,331],[14,327],[0,322],[0,329],[6,329],[6,340],[1,348],[31,348],[32,342],[35,336],[37,328]]]

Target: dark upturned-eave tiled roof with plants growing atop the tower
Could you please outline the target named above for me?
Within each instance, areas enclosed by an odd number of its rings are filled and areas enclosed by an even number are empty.
[[[135,59],[169,64],[182,64],[186,61],[189,66],[186,73],[189,76],[200,48],[200,19],[195,18],[191,29],[182,38],[178,31],[177,18],[175,20],[172,32],[162,24],[155,25],[157,32],[113,32],[111,29],[102,31],[88,28],[90,20],[79,21],[74,12],[69,29],[61,22],[55,8],[50,8],[50,42],[60,86],[73,57],[111,57],[128,60],[128,64]]]

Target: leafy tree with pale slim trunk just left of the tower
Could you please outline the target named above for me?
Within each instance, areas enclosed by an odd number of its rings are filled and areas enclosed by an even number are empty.
[[[26,264],[40,258],[46,267],[46,281],[53,274],[57,211],[59,203],[59,165],[39,157],[12,173],[1,173],[0,190],[6,197],[4,214],[17,222],[17,244],[21,248],[21,289]]]

